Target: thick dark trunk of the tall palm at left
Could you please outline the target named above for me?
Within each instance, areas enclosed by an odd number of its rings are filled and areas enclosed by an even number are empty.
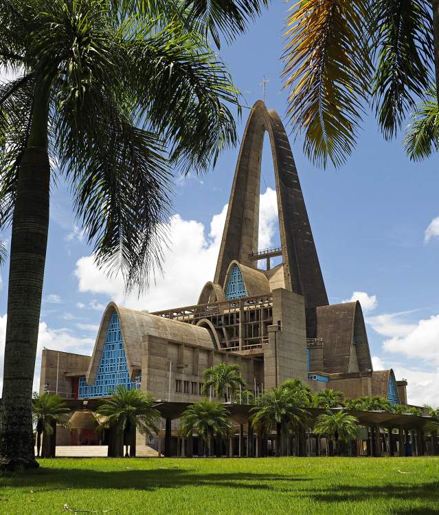
[[[35,94],[32,126],[16,188],[8,286],[0,468],[36,468],[32,384],[49,229],[47,90]]]

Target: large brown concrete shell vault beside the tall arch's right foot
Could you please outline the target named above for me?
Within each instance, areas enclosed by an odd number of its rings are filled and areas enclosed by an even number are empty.
[[[372,370],[368,335],[358,301],[317,307],[310,325],[310,336],[324,340],[325,373]]]

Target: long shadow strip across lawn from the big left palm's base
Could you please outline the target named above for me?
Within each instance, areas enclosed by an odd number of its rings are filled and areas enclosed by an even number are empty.
[[[53,490],[77,489],[116,489],[116,490],[155,490],[157,488],[179,488],[187,485],[203,485],[226,488],[246,488],[249,490],[290,491],[291,481],[310,481],[297,476],[282,474],[226,473],[203,474],[190,469],[158,468],[153,470],[87,470],[41,468],[26,474],[3,476],[9,487],[30,486],[34,493]],[[278,485],[269,483],[277,481]],[[284,483],[284,487],[280,483]]]

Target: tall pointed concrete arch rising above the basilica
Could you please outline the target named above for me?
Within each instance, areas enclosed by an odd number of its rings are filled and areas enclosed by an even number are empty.
[[[229,263],[254,267],[258,250],[260,165],[264,133],[269,133],[286,289],[305,298],[307,308],[328,305],[302,188],[284,125],[258,100],[251,109],[241,143],[214,283],[223,285]]]

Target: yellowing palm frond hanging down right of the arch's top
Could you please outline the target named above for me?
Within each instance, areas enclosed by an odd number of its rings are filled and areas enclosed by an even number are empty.
[[[290,8],[284,50],[288,115],[304,152],[340,166],[355,144],[369,98],[368,1],[307,0]]]

